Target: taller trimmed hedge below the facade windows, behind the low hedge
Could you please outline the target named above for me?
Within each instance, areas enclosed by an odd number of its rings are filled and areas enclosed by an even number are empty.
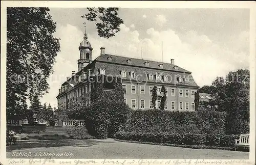
[[[225,133],[225,117],[222,112],[208,109],[196,111],[135,110],[122,128],[126,132],[189,132]]]

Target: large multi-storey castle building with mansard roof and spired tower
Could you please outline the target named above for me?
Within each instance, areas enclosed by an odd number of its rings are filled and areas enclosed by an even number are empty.
[[[121,77],[124,101],[132,108],[153,108],[154,86],[157,86],[158,95],[156,107],[160,108],[161,87],[164,86],[167,92],[166,110],[195,110],[194,98],[199,86],[191,72],[175,65],[174,59],[170,59],[170,63],[161,63],[114,56],[106,54],[105,48],[100,49],[100,56],[92,60],[93,48],[85,31],[79,46],[78,72],[73,71],[72,76],[61,85],[57,96],[58,108],[67,108],[72,102],[90,102],[90,76],[103,74]]]

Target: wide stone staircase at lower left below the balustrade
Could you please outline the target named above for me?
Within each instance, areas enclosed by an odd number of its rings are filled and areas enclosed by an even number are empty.
[[[45,126],[45,125],[23,125],[24,133],[27,133],[30,139],[38,140],[58,140],[69,139],[69,135],[62,127]]]

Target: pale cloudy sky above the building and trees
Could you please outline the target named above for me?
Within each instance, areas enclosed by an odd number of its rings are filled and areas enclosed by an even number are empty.
[[[110,39],[98,36],[95,22],[81,18],[86,13],[86,8],[50,8],[60,52],[42,103],[57,107],[60,85],[77,71],[83,22],[87,22],[93,59],[100,55],[100,47],[105,47],[105,53],[123,57],[166,63],[175,59],[176,65],[192,72],[200,87],[211,85],[229,71],[249,69],[249,9],[120,8],[124,24]]]

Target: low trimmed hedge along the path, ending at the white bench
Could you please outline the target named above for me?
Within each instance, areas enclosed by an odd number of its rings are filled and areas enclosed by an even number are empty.
[[[234,140],[239,139],[239,135],[119,131],[115,138],[137,142],[234,147]]]

